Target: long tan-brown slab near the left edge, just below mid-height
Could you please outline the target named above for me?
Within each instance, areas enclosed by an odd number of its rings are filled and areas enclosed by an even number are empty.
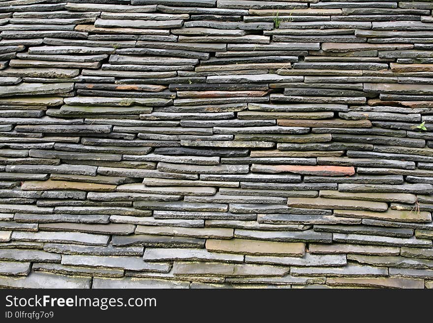
[[[114,192],[116,185],[73,182],[63,180],[28,180],[21,185],[23,191],[80,190],[93,192]]]

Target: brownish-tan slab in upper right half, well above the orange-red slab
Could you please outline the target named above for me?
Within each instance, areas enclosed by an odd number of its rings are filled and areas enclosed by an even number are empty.
[[[306,120],[306,119],[278,119],[279,126],[287,127],[329,127],[329,128],[370,128],[370,120]]]

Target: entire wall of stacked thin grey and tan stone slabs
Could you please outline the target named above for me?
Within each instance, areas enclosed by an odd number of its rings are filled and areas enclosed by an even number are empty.
[[[0,286],[432,288],[432,9],[1,0]]]

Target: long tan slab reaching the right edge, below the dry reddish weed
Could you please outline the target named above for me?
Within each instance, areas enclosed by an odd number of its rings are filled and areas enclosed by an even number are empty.
[[[371,203],[371,202],[369,202]],[[334,209],[335,216],[348,216],[353,218],[377,219],[397,222],[432,222],[432,214],[426,211],[416,212],[388,209],[386,212],[359,211],[351,209]]]

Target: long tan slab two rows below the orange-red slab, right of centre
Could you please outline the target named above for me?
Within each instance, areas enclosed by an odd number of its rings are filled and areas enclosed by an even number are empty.
[[[326,199],[326,198],[289,198],[288,206],[305,207],[305,208],[324,208],[339,210],[374,210],[386,211],[388,204],[384,202]],[[347,212],[350,213],[351,211]],[[364,213],[364,211],[358,211]],[[427,212],[428,213],[428,212]],[[430,213],[429,213],[430,214]]]

